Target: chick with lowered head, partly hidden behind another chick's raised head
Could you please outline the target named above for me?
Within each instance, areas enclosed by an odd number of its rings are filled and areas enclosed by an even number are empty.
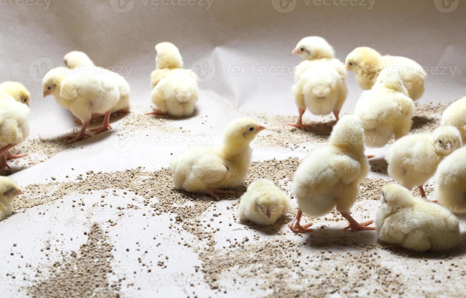
[[[357,47],[346,57],[346,69],[353,71],[359,86],[370,89],[379,73],[385,68],[398,70],[401,73],[404,87],[412,100],[419,99],[424,93],[424,80],[427,76],[422,66],[416,61],[398,56],[381,56],[370,47]]]

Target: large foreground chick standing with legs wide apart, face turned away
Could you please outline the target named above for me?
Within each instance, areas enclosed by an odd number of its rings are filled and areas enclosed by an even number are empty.
[[[295,221],[289,225],[291,231],[314,231],[309,228],[312,223],[300,224],[302,212],[321,216],[335,208],[349,221],[345,230],[374,230],[368,227],[373,220],[359,224],[349,215],[359,185],[368,172],[361,120],[354,115],[345,115],[334,126],[329,145],[311,151],[295,172],[293,191],[299,209]]]

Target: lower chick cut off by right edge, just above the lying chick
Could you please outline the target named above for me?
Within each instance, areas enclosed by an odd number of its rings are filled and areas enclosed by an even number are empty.
[[[466,213],[466,146],[440,163],[435,173],[435,197],[455,213]]]

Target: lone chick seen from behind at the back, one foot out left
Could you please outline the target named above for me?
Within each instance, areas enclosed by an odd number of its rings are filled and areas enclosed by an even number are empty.
[[[199,96],[194,74],[189,69],[183,69],[181,54],[170,42],[159,43],[155,51],[157,69],[151,74],[151,97],[158,108],[146,115],[191,115]]]

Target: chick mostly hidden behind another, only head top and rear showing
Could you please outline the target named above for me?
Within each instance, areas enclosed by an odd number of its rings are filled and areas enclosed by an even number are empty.
[[[78,51],[67,53],[63,58],[63,63],[65,63],[69,69],[75,69],[76,67],[81,66],[94,66],[94,62],[90,60],[86,53]],[[120,91],[120,99],[118,100],[117,104],[112,107],[111,113],[114,115],[130,113],[130,84],[128,84],[128,81],[126,81],[122,75],[114,73],[108,69],[102,70],[103,73],[107,73],[110,75],[110,77],[115,79],[115,83],[118,85],[118,90]],[[100,116],[102,115],[96,115],[94,118]]]

